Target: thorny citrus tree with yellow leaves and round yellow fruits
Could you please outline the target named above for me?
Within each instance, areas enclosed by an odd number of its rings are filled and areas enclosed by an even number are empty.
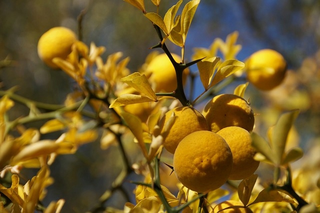
[[[285,83],[283,56],[261,49],[239,61],[241,46],[233,32],[208,48],[194,48],[187,59],[185,42],[200,0],[178,0],[164,15],[160,0],[151,0],[151,8],[144,0],[124,1],[155,31],[139,70],[129,70],[129,57],[121,52],[104,59],[104,46],[53,27],[37,48],[44,63],[76,83],[64,104],[27,99],[15,94],[15,87],[0,91],[0,212],[62,212],[63,198],[42,203],[54,179],[50,166],[59,155],[76,154],[97,140],[103,149],[116,143],[123,164],[90,212],[319,212],[318,159],[292,168],[303,160],[291,138],[299,109],[283,111],[266,136],[260,135],[262,112],[246,98],[249,84],[267,92]],[[168,42],[181,51],[171,52]],[[187,97],[196,79],[202,92]],[[223,92],[234,83],[232,93]],[[16,103],[29,113],[11,119],[8,112]],[[30,126],[39,120],[45,121],[39,128]],[[58,136],[48,136],[52,132]],[[131,162],[125,143],[136,144],[140,160]],[[37,173],[24,181],[20,171],[28,168]],[[131,173],[142,177],[129,180],[134,199],[126,195],[122,209],[105,206]]]

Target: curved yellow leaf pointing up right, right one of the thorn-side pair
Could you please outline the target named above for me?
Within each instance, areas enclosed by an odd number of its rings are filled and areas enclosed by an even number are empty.
[[[210,87],[223,80],[225,77],[233,74],[234,72],[243,69],[243,67],[244,63],[236,59],[224,61],[219,65]]]

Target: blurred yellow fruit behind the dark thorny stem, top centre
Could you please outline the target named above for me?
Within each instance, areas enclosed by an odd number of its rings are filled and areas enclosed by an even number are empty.
[[[181,57],[171,53],[176,62],[181,62]],[[175,69],[165,53],[156,55],[146,67],[146,72],[150,72],[149,80],[155,84],[155,92],[172,92],[176,89]],[[183,70],[182,81],[186,81],[189,70]]]

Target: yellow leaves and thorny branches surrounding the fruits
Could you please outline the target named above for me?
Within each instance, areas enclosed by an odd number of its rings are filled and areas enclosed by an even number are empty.
[[[156,12],[147,12],[143,0],[125,1],[138,8],[151,21],[150,26],[153,25],[158,36],[157,44],[151,48],[161,49],[170,59],[175,69],[176,89],[166,93],[155,92],[150,76],[144,69],[145,64],[138,71],[129,70],[129,57],[123,58],[121,52],[111,53],[104,60],[102,54],[105,47],[96,46],[94,42],[87,45],[78,40],[66,58],[52,59],[56,66],[76,82],[74,91],[65,97],[63,104],[27,99],[15,93],[16,87],[0,90],[0,211],[60,212],[64,199],[51,201],[47,206],[41,202],[46,195],[46,188],[54,179],[50,176],[50,166],[59,155],[75,154],[80,146],[96,140],[100,141],[104,149],[116,143],[123,167],[111,188],[106,189],[90,212],[98,212],[100,209],[114,212],[116,209],[105,207],[104,203],[133,172],[143,176],[144,181],[131,181],[136,184],[135,200],[127,200],[123,209],[120,209],[124,212],[214,212],[216,205],[228,199],[243,204],[232,207],[247,207],[252,211],[274,208],[283,212],[320,211],[320,202],[315,198],[320,194],[318,161],[309,164],[309,167],[301,165],[298,169],[291,168],[292,163],[303,155],[302,148],[298,146],[287,148],[298,109],[281,113],[276,124],[267,131],[267,139],[257,133],[258,126],[251,132],[252,146],[257,151],[254,157],[265,162],[264,166],[273,168],[272,180],[265,180],[261,172],[241,181],[228,180],[225,187],[207,193],[191,191],[179,182],[174,184],[173,189],[164,185],[165,180],[162,181],[160,176],[168,178],[169,175],[161,173],[160,167],[164,165],[169,170],[173,167],[172,156],[166,155],[162,145],[163,135],[158,125],[162,115],[178,105],[200,106],[206,97],[216,96],[231,82],[238,84],[234,94],[244,97],[248,86],[248,82],[242,82],[246,74],[245,64],[236,59],[241,48],[236,43],[237,32],[230,33],[225,41],[214,39],[208,48],[195,48],[189,62],[184,58],[186,35],[200,0],[186,3],[179,0],[163,17],[158,12],[160,0],[151,0]],[[180,10],[181,14],[177,15]],[[181,48],[182,61],[173,59],[166,46],[167,42]],[[221,58],[217,57],[217,51],[222,53]],[[5,59],[1,64],[5,66],[6,62]],[[187,98],[182,73],[188,67],[191,69],[192,65],[195,68],[195,64],[198,70],[190,74],[190,84],[194,85],[193,81],[198,77],[203,92],[195,98]],[[192,89],[194,87],[191,86]],[[147,121],[142,121],[123,107],[145,102],[152,109]],[[12,119],[9,111],[16,103],[27,107],[29,113]],[[32,126],[34,121],[39,120],[45,121],[39,128],[27,125]],[[170,129],[173,123],[174,114],[165,128]],[[44,139],[52,132],[58,136]],[[126,141],[127,137],[123,136],[126,134],[133,135],[134,139]],[[123,148],[124,142],[136,142],[141,161],[130,162],[130,152]],[[22,183],[21,170],[30,168],[37,169],[36,175]],[[304,188],[296,181],[299,178],[296,173],[312,169],[315,169],[313,178],[304,178],[316,180]]]

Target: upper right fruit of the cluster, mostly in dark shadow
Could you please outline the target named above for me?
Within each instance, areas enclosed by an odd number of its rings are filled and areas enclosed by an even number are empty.
[[[240,126],[248,131],[253,129],[254,114],[251,106],[235,94],[214,96],[204,106],[202,114],[213,132],[227,126]]]

